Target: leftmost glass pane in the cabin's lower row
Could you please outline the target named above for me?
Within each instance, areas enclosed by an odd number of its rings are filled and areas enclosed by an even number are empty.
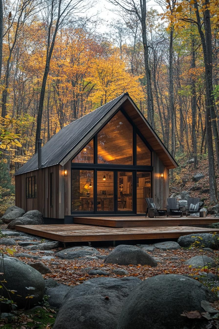
[[[94,170],[72,170],[72,211],[94,211]]]

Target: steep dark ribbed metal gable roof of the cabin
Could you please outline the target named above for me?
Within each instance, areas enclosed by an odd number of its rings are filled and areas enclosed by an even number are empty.
[[[90,139],[95,132],[99,130],[100,123],[102,125],[104,119],[107,122],[109,117],[115,112],[125,101],[129,100],[134,104],[128,93],[122,94],[119,97],[113,99],[112,101],[104,104],[98,109],[82,116],[81,118],[69,123],[67,126],[59,130],[45,145],[42,147],[42,167],[46,168],[55,164],[64,165],[70,158],[77,154],[80,148],[83,147],[81,141],[86,142],[86,137]],[[135,106],[136,111],[141,114],[141,112]],[[142,114],[141,114],[142,115]],[[145,118],[144,118],[145,119]],[[105,123],[106,123],[105,122]],[[145,119],[147,127],[150,127],[149,123]],[[176,168],[178,164],[172,158],[171,154],[165,148],[162,141],[153,131],[152,135],[155,139],[159,140],[159,145],[162,146],[165,156],[171,160],[172,168]],[[93,134],[93,135],[92,135]],[[150,144],[150,143],[149,143]],[[16,173],[15,175],[20,175],[26,172],[30,172],[38,169],[38,155],[37,153],[28,160]]]

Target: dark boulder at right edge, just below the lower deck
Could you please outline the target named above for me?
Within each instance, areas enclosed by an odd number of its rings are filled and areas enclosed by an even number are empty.
[[[211,249],[217,249],[218,245],[217,237],[211,233],[194,233],[183,235],[182,237],[179,237],[177,242],[181,247],[185,248],[190,247],[193,243],[194,246]]]

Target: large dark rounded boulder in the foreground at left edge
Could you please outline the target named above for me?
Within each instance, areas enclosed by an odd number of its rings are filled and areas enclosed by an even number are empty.
[[[7,290],[15,290],[10,294],[11,299],[17,303],[18,308],[33,307],[43,299],[45,282],[42,275],[33,267],[19,261],[14,257],[4,255],[4,262],[0,263],[0,280],[5,280],[4,297],[8,298]],[[33,298],[26,298],[33,296]]]

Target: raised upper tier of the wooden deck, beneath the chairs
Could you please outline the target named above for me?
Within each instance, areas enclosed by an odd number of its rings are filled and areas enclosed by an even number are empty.
[[[109,227],[151,227],[151,226],[178,226],[178,225],[207,225],[217,223],[215,217],[156,217],[143,216],[124,217],[74,217],[74,224],[99,225]]]

